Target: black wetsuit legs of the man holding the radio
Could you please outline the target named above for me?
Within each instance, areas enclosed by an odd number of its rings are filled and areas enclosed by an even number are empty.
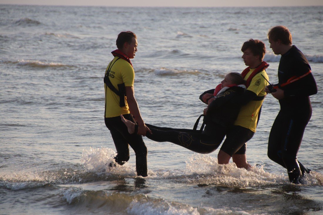
[[[280,111],[270,131],[268,157],[287,169],[289,180],[293,183],[300,183],[301,176],[309,172],[298,162],[297,153],[310,116],[311,111],[297,117]]]

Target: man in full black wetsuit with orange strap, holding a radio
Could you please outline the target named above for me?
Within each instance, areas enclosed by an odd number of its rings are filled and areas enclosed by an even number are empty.
[[[309,96],[316,94],[318,89],[306,57],[292,46],[292,35],[287,27],[273,27],[268,32],[268,40],[273,52],[281,55],[278,84],[265,89],[280,104],[269,135],[268,157],[286,168],[289,180],[298,184],[302,175],[309,173],[297,160],[297,152],[312,115]]]

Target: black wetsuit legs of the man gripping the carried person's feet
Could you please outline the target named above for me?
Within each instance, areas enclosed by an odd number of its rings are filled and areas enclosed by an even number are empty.
[[[130,114],[123,115],[124,118],[134,122]],[[114,144],[117,149],[115,160],[118,164],[129,160],[129,146],[136,154],[136,171],[138,176],[147,176],[147,147],[142,140],[141,135],[129,134],[127,126],[121,121],[121,118],[105,118],[105,124],[109,128]]]

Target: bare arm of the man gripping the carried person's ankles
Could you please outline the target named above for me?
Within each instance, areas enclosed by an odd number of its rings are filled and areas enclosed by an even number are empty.
[[[139,111],[138,103],[135,98],[135,91],[133,87],[126,87],[127,103],[129,105],[130,113],[133,115],[138,123],[138,133],[139,135],[146,136],[146,132],[151,133],[151,130],[145,125],[141,114]]]

